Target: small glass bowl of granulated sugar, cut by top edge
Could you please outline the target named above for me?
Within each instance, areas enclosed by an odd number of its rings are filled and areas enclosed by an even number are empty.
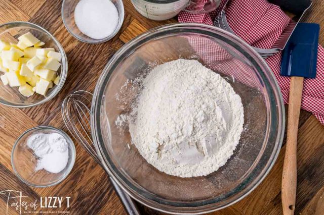
[[[64,0],[63,23],[72,36],[87,43],[114,37],[124,21],[122,0]]]

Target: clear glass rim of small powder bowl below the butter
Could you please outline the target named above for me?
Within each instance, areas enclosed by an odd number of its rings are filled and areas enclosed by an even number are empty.
[[[60,180],[56,181],[55,183],[48,184],[48,185],[37,185],[37,184],[33,184],[33,183],[30,183],[30,182],[26,181],[24,178],[22,178],[20,176],[20,174],[16,170],[16,166],[14,165],[14,151],[15,151],[19,141],[21,140],[21,138],[23,138],[29,132],[33,132],[34,130],[42,130],[42,129],[52,129],[52,130],[55,130],[56,132],[60,133],[61,135],[63,135],[66,138],[66,140],[68,141],[68,143],[70,145],[70,148],[72,150],[72,152],[71,152],[72,153],[71,163],[69,164],[68,169],[65,171],[64,176]],[[54,186],[54,185],[57,185],[57,184],[61,183],[70,174],[70,172],[73,169],[74,163],[75,163],[75,157],[76,157],[75,146],[74,146],[74,143],[73,143],[71,137],[69,135],[67,135],[67,133],[65,133],[61,129],[58,129],[58,128],[55,128],[55,127],[52,127],[52,126],[36,126],[36,127],[33,127],[33,128],[30,128],[30,129],[26,130],[15,141],[14,146],[13,146],[12,151],[11,151],[11,166],[12,166],[12,169],[14,170],[14,173],[16,174],[16,176],[19,178],[19,180],[21,182],[23,182],[23,183],[25,183],[25,184],[27,184],[29,186],[33,186],[33,187],[51,187],[51,186]]]

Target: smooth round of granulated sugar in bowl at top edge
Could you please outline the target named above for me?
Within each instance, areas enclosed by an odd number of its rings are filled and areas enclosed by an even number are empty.
[[[75,7],[77,28],[93,39],[111,35],[118,25],[118,11],[109,0],[81,0]]]

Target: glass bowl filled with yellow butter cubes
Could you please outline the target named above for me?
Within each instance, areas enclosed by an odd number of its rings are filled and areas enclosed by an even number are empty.
[[[67,76],[59,41],[29,22],[0,25],[0,103],[28,108],[52,99]]]

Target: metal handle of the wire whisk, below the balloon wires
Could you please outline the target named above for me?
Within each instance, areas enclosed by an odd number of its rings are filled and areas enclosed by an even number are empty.
[[[109,177],[109,179],[121,203],[123,203],[126,212],[129,215],[140,215],[140,212],[136,206],[135,201],[118,186],[118,184],[115,182],[115,180],[112,177]]]

